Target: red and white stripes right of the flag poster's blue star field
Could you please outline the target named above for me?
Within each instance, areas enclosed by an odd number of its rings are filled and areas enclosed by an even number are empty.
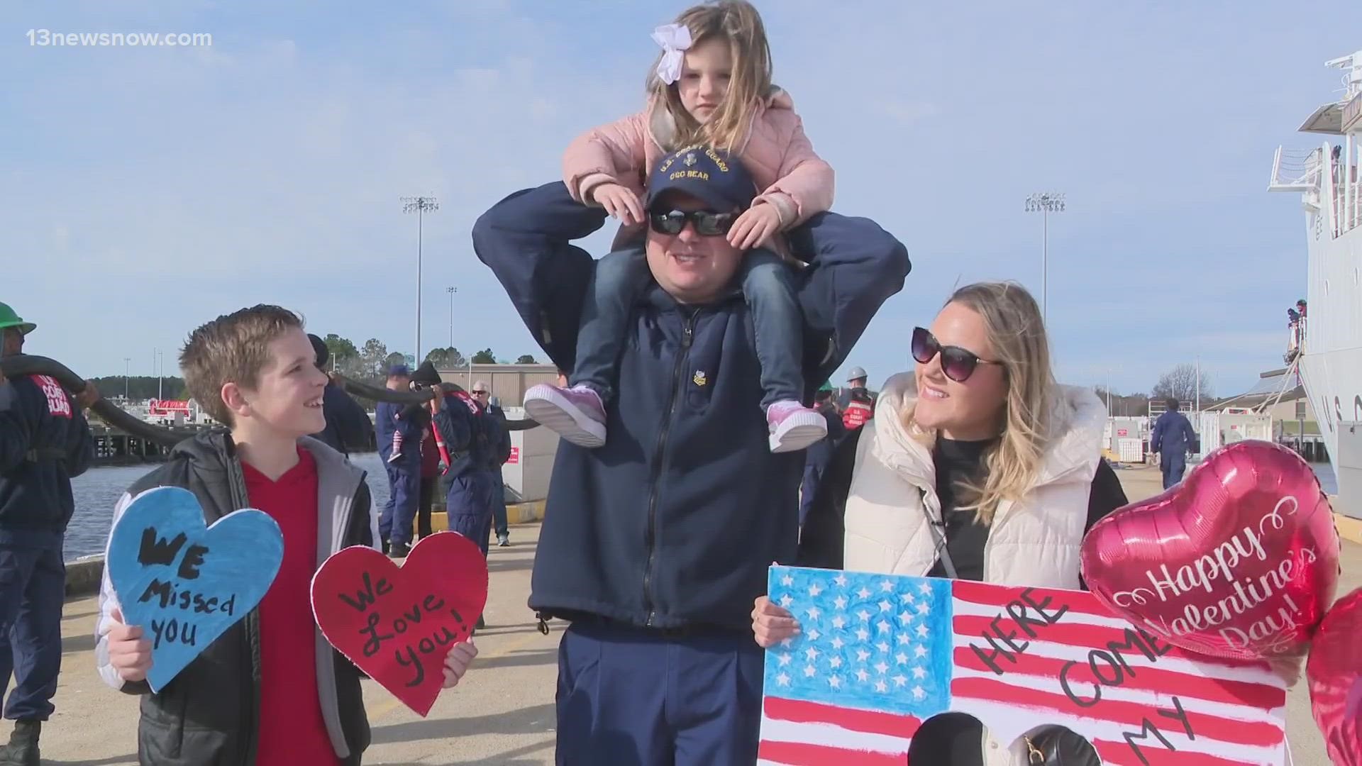
[[[1005,616],[997,587],[982,589],[970,582],[953,586],[952,709],[974,714],[998,740],[1013,741],[1041,724],[1066,725],[1092,737],[1105,763],[1143,766],[1124,735],[1139,735],[1148,720],[1177,748],[1169,751],[1154,735],[1137,740],[1151,765],[1283,763],[1286,691],[1265,664],[1218,660],[1177,647],[1151,661],[1137,647],[1121,649],[1132,672],[1124,673],[1120,686],[1100,687],[1102,699],[1096,705],[1081,707],[1064,694],[1060,669],[1077,661],[1069,672],[1071,688],[1091,699],[1096,687],[1088,668],[1090,653],[1107,652],[1109,642],[1125,643],[1128,622],[1107,613],[1096,600],[1080,608],[1073,605],[1072,593],[1056,592],[1051,604],[1068,602],[1071,608],[1056,624],[1034,627],[1038,635],[1032,639]],[[1045,590],[1032,589],[1032,601],[1043,602],[1045,597]],[[992,649],[982,634],[1000,612],[1004,615],[1000,627],[1016,631],[1015,642],[1030,641],[1015,664],[998,660],[1001,676],[970,649],[971,643]],[[1162,646],[1166,645],[1160,642]],[[1106,662],[1099,667],[1105,673],[1114,672]],[[1182,721],[1158,713],[1174,711],[1174,696],[1194,739],[1188,737]]]

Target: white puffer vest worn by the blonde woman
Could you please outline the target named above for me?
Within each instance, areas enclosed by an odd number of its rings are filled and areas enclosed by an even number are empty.
[[[941,518],[932,450],[899,413],[917,397],[913,373],[884,384],[874,418],[857,444],[846,506],[846,568],[925,575],[937,560],[930,519]],[[1079,587],[1079,547],[1092,476],[1102,458],[1106,408],[1086,388],[1061,386],[1054,406],[1060,436],[1046,451],[1036,485],[1004,502],[983,549],[983,579],[1001,585]],[[1026,747],[985,735],[987,766],[1023,766]]]

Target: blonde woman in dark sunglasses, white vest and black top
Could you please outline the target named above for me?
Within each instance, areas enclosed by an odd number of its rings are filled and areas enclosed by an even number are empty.
[[[874,418],[843,442],[799,542],[804,566],[1027,585],[1081,586],[1079,547],[1126,503],[1102,459],[1106,408],[1060,386],[1035,298],[982,282],[951,296],[930,328],[913,331],[911,373],[891,378]],[[757,643],[798,632],[789,612],[757,598]],[[1054,735],[1065,763],[1096,763],[1081,740]],[[1027,763],[964,716],[913,739],[913,763]],[[1053,754],[1047,754],[1053,758]]]

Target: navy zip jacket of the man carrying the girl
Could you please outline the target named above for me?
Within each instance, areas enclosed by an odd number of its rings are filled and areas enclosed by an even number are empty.
[[[594,260],[573,247],[605,213],[561,183],[516,192],[473,229],[549,357],[572,369]],[[791,232],[813,263],[797,277],[809,397],[846,358],[908,271],[904,247],[865,219],[820,214]],[[825,240],[825,241],[824,241]],[[652,284],[635,307],[606,410],[609,438],[561,442],[531,578],[543,616],[749,630],[767,567],[798,536],[799,453],[771,454],[752,322],[741,290],[703,307]]]

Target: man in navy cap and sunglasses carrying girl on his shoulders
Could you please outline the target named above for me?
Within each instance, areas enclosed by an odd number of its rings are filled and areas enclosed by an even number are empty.
[[[662,168],[650,179],[648,281],[613,360],[610,438],[560,443],[534,562],[530,607],[572,622],[558,649],[558,763],[752,763],[763,653],[749,612],[771,562],[797,545],[804,455],[771,451],[744,254],[712,233],[756,189],[719,150],[689,147]],[[473,229],[478,258],[561,369],[573,369],[595,269],[571,241],[605,218],[553,183]],[[812,254],[793,274],[804,398],[902,289],[908,260],[865,219],[820,214],[789,236]]]

